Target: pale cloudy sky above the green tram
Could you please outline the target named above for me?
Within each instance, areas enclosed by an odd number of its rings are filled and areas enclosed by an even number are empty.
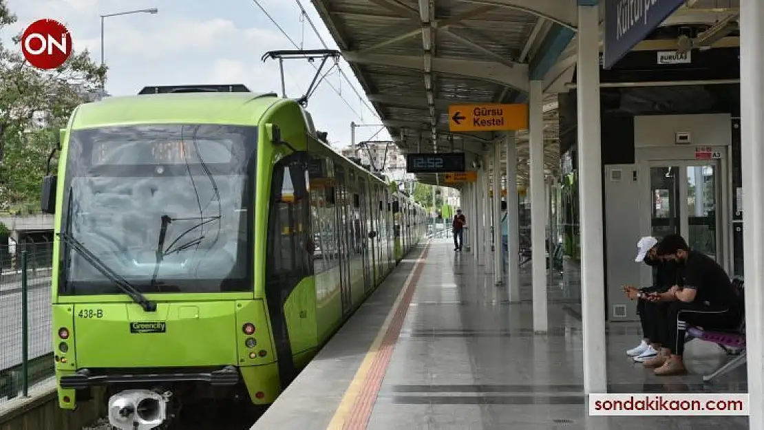
[[[106,91],[134,95],[144,86],[243,83],[254,92],[281,92],[278,63],[261,61],[268,50],[298,49],[267,18],[254,0],[7,0],[18,23],[0,36],[11,37],[40,18],[62,22],[73,38],[74,50],[87,49],[100,62],[100,15],[157,8],[151,15],[137,13],[105,18],[104,61],[109,67]],[[302,18],[297,0],[257,0],[283,31],[302,49],[322,49],[319,36]],[[337,49],[310,0],[299,0],[330,49]],[[329,70],[329,60],[324,72]],[[350,144],[351,121],[380,124],[371,103],[348,63],[326,76],[308,102],[316,128],[329,132],[335,147]],[[284,62],[286,95],[297,98],[307,89],[315,69],[306,60]],[[361,97],[359,97],[356,92]],[[356,141],[379,133],[379,127],[356,129]]]

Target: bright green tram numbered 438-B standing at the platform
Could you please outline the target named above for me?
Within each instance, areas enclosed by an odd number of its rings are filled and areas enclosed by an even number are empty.
[[[118,428],[272,403],[425,233],[301,105],[241,85],[80,105],[57,149],[42,206],[59,405],[105,387]]]

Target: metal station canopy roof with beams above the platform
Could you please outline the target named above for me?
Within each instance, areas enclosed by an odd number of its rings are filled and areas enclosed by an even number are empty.
[[[604,0],[599,3],[604,19]],[[736,18],[738,3],[690,0],[662,27],[713,29],[722,19]],[[529,79],[536,79],[545,82],[545,168],[558,173],[557,93],[568,91],[575,72],[576,0],[313,4],[403,153],[464,150],[468,159],[482,153],[500,134],[449,132],[448,106],[525,102]],[[634,49],[676,50],[677,32],[666,34]],[[722,38],[714,38],[709,47]],[[527,132],[518,132],[517,141],[522,186],[528,173]],[[442,175],[419,174],[417,179],[445,185]]]

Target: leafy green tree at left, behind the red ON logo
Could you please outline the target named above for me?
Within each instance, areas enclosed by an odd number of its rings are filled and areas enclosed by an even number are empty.
[[[0,0],[0,32],[16,22]],[[105,82],[106,67],[96,66],[87,50],[74,52],[56,70],[37,70],[13,47],[0,42],[0,208],[40,201],[40,179],[77,105],[88,102]],[[34,124],[35,115],[43,120]],[[55,164],[53,164],[53,167]]]

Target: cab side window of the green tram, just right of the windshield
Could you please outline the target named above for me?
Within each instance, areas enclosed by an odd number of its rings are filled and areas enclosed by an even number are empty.
[[[305,170],[299,166],[279,165],[274,170],[267,255],[268,271],[275,276],[312,273],[310,199],[300,183],[305,180]]]

